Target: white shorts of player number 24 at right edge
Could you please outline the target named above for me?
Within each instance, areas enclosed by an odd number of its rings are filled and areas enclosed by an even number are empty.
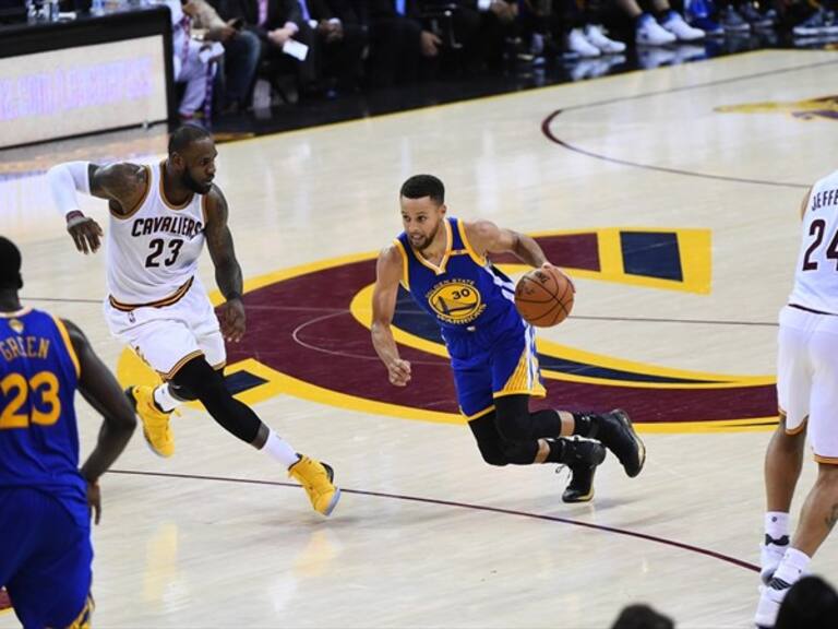
[[[780,311],[777,397],[786,431],[809,439],[821,463],[838,465],[838,317],[790,306]]]

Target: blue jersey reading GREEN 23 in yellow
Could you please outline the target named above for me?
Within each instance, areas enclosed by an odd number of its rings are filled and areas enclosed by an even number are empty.
[[[84,499],[73,404],[79,375],[59,319],[34,309],[0,314],[0,487]]]

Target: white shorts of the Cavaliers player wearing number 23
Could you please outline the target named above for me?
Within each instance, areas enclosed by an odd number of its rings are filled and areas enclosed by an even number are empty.
[[[225,365],[227,354],[218,318],[197,276],[171,306],[124,311],[106,299],[104,310],[110,333],[164,380],[173,378],[183,365],[202,354],[215,369]]]

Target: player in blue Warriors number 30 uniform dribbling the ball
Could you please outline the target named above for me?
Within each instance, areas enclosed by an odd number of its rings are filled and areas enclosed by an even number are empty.
[[[565,502],[592,498],[606,448],[628,476],[639,474],[646,450],[625,412],[529,411],[530,397],[546,395],[535,332],[515,308],[515,285],[487,256],[552,266],[538,244],[488,221],[446,216],[444,186],[431,175],[405,181],[399,203],[405,230],[379,256],[372,296],[372,343],[390,382],[405,387],[411,376],[391,329],[402,284],[441,328],[460,412],[487,463],[565,464],[573,473]]]

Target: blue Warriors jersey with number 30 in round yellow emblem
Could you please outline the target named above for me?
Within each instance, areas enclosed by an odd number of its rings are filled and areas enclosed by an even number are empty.
[[[443,336],[458,332],[502,332],[523,328],[515,309],[515,284],[468,241],[463,222],[443,219],[447,246],[439,266],[396,238],[403,257],[402,284],[414,300],[442,327]]]

